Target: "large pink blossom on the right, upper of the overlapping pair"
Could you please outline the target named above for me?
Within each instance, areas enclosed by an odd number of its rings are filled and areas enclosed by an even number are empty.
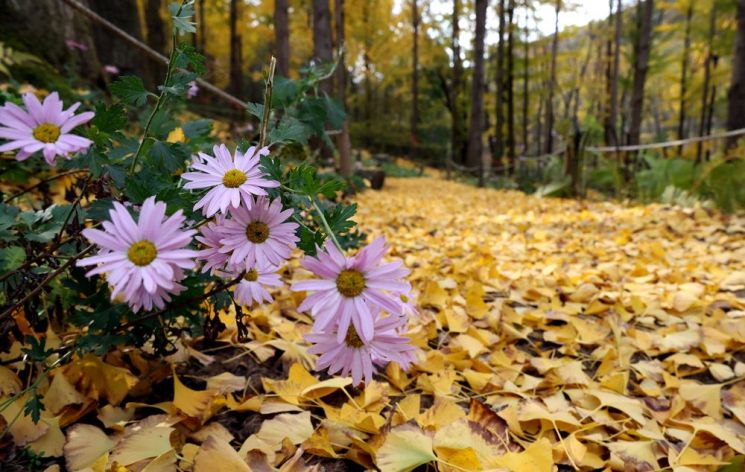
[[[313,328],[327,330],[338,321],[338,341],[344,339],[350,322],[363,341],[373,339],[374,309],[399,315],[401,295],[408,295],[411,286],[404,280],[409,270],[398,260],[381,263],[388,250],[384,237],[379,237],[353,257],[345,257],[330,241],[326,252],[306,257],[301,265],[321,279],[295,282],[292,290],[315,291],[305,298],[298,311],[310,310],[316,319]]]

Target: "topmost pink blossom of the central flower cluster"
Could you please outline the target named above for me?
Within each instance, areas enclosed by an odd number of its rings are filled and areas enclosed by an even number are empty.
[[[185,189],[210,190],[194,205],[194,210],[202,208],[202,213],[210,217],[228,207],[238,208],[241,201],[251,208],[253,195],[267,195],[266,188],[279,187],[279,182],[266,179],[259,169],[259,157],[269,154],[269,148],[256,149],[252,146],[245,154],[238,149],[231,156],[224,144],[213,148],[215,157],[200,152],[191,165],[196,172],[186,172],[181,177],[188,180]]]

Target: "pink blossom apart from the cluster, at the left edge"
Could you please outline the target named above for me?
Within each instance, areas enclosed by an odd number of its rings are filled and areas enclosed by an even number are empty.
[[[73,128],[94,116],[91,111],[75,115],[79,102],[63,110],[59,95],[53,92],[43,103],[33,93],[25,93],[23,103],[26,110],[10,102],[0,108],[0,138],[9,140],[0,145],[0,152],[18,149],[16,160],[23,161],[42,151],[49,165],[54,165],[57,156],[69,158],[70,154],[85,151],[93,144],[90,139],[70,134]]]

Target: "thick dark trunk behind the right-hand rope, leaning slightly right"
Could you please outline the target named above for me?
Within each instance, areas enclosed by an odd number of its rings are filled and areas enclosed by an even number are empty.
[[[629,122],[629,145],[639,144],[644,112],[644,83],[649,70],[649,51],[652,43],[652,13],[654,0],[644,0],[639,3],[638,24],[639,33],[635,45],[634,85],[631,91],[631,118]]]

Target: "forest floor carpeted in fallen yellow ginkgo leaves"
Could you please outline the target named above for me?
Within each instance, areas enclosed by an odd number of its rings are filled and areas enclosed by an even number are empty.
[[[411,372],[364,390],[312,374],[302,294],[281,291],[245,315],[252,341],[223,314],[221,343],[180,343],[175,380],[136,352],[73,362],[46,429],[16,422],[16,442],[72,470],[682,472],[745,454],[745,218],[430,177],[357,200],[412,270]]]

